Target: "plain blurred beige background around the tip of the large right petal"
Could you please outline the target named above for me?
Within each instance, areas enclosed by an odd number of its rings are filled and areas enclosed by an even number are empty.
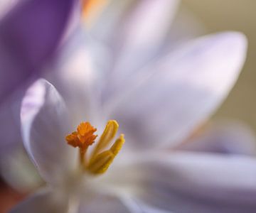
[[[238,83],[215,116],[240,119],[256,131],[256,1],[183,0],[182,7],[192,11],[207,33],[242,31],[249,40],[247,61]]]

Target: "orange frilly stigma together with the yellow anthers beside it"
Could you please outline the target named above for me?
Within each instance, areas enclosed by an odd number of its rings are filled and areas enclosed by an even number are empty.
[[[88,160],[86,160],[87,148],[95,143],[97,135],[94,133],[97,129],[95,129],[89,122],[82,122],[78,125],[77,131],[70,133],[65,139],[70,146],[79,148],[80,165],[82,169],[87,170],[94,175],[100,175],[107,171],[124,144],[124,135],[121,134],[112,146],[105,150],[107,146],[110,146],[117,130],[117,121],[111,120],[107,122],[105,130],[103,131],[102,136],[100,136],[100,140],[97,141]]]

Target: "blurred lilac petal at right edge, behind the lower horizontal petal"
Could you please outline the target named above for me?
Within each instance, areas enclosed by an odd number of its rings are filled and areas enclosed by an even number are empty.
[[[256,155],[255,134],[245,124],[215,121],[177,147],[186,151]]]

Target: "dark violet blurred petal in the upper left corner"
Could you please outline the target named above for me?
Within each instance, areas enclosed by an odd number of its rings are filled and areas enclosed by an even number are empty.
[[[0,102],[50,60],[75,0],[19,1],[0,21]]]

